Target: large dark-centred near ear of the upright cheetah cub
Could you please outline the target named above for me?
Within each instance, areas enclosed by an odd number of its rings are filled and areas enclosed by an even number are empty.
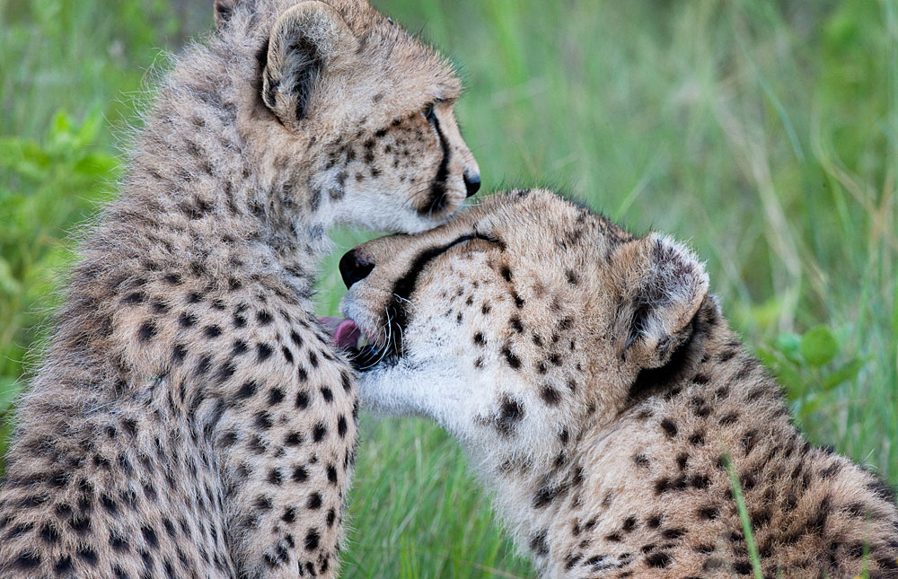
[[[308,114],[323,75],[346,64],[357,39],[329,4],[311,0],[275,22],[262,71],[262,101],[285,125]]]

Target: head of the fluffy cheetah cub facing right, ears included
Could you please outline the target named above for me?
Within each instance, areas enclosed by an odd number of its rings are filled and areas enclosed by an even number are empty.
[[[255,55],[238,122],[282,206],[420,232],[480,188],[453,66],[364,0],[216,0],[216,26]]]

